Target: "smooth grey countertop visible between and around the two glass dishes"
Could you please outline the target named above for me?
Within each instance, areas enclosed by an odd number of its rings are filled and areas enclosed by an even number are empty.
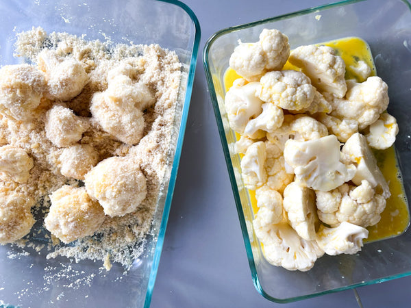
[[[201,44],[182,157],[151,307],[358,307],[353,290],[289,304],[255,289],[204,73],[202,53],[220,29],[327,3],[324,0],[183,0]],[[411,277],[357,288],[364,307],[410,307]]]

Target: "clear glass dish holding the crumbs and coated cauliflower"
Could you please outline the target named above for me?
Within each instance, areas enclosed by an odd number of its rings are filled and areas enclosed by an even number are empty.
[[[47,251],[0,246],[0,306],[8,307],[149,307],[182,151],[197,63],[200,28],[195,14],[179,1],[0,1],[0,66],[17,64],[16,33],[41,26],[87,40],[157,43],[182,62],[177,112],[166,176],[144,251],[132,268],[102,261],[46,259]],[[41,239],[39,240],[41,243]]]

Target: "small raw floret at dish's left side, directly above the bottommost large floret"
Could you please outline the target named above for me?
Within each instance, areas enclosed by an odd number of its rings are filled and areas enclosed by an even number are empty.
[[[277,190],[271,190],[264,185],[256,190],[258,212],[256,219],[264,225],[276,224],[283,219],[282,196]]]

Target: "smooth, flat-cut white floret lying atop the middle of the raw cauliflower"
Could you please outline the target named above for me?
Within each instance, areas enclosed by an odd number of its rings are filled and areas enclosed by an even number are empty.
[[[295,177],[314,190],[332,190],[353,178],[356,168],[340,162],[340,142],[329,135],[315,140],[288,140],[284,148],[286,163]]]

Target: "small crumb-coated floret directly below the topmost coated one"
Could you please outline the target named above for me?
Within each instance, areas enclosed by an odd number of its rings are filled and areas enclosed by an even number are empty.
[[[87,129],[86,119],[76,116],[69,108],[55,105],[46,113],[46,136],[55,146],[71,146],[82,139]]]

